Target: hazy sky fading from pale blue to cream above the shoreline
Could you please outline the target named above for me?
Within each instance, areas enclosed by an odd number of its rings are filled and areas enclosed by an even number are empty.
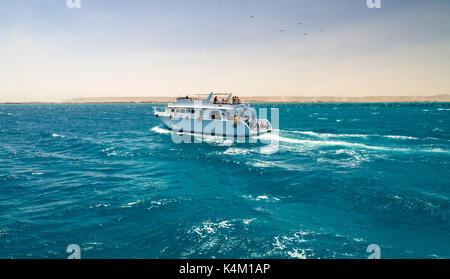
[[[381,2],[0,0],[0,102],[450,94],[450,1]]]

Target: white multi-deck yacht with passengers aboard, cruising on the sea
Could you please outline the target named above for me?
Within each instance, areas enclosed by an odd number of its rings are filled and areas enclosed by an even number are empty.
[[[231,93],[210,93],[177,98],[167,107],[155,107],[155,117],[175,132],[251,137],[272,131],[249,104],[241,104]]]

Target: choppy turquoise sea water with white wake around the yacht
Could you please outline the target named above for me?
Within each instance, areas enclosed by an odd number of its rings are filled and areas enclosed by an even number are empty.
[[[450,257],[450,104],[257,105],[278,145],[152,106],[1,105],[0,258]]]

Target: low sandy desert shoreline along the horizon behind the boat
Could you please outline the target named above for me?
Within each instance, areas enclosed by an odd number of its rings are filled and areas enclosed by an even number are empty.
[[[77,98],[62,102],[1,102],[0,104],[164,104],[175,97],[100,97]],[[450,95],[438,96],[380,96],[380,97],[300,97],[300,96],[248,96],[241,97],[246,103],[447,103]]]

